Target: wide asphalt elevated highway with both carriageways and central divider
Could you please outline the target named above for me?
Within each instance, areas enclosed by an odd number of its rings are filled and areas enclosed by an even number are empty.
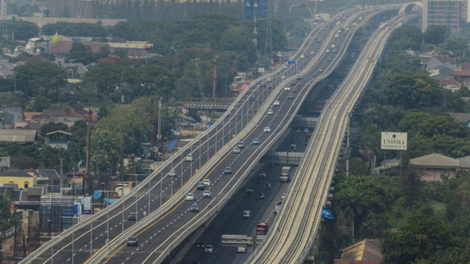
[[[360,27],[367,23],[372,13],[377,11],[361,11],[348,18],[346,23],[352,25],[357,21]],[[343,15],[351,16],[352,13]],[[359,20],[359,17],[363,19]],[[339,16],[334,20],[340,20]],[[292,58],[297,64],[267,76],[272,79],[270,83],[265,78],[256,80],[214,126],[177,152],[130,195],[92,219],[66,230],[22,263],[163,262],[178,244],[209,221],[230,199],[259,158],[295,117],[310,88],[331,73],[356,31],[351,25],[351,31],[338,38],[334,38],[334,33],[339,25],[328,23],[312,30]],[[336,44],[338,52],[326,52],[331,44]],[[315,56],[310,56],[312,52]],[[312,71],[318,73],[316,78],[295,78],[298,74],[311,75]],[[287,79],[281,82],[281,76]],[[291,82],[296,83],[291,88],[298,88],[298,92],[292,92],[293,99],[288,98],[290,92],[283,92]],[[272,107],[274,100],[279,101],[278,107]],[[268,109],[274,114],[266,114]],[[271,128],[270,133],[263,132],[265,127]],[[259,145],[251,144],[254,138],[259,138]],[[235,155],[232,148],[240,140],[245,141],[247,147],[240,155]],[[186,161],[188,154],[192,154],[192,161]],[[225,167],[231,167],[233,174],[223,174]],[[172,169],[176,176],[168,176]],[[201,193],[194,191],[194,186],[202,179],[211,180],[208,188],[213,194],[210,199],[202,199]],[[192,203],[184,201],[188,191],[196,194],[199,212],[189,212]],[[143,217],[144,211],[148,216]],[[127,220],[129,212],[137,212],[137,221]],[[130,235],[139,237],[138,247],[125,247],[123,243]]]

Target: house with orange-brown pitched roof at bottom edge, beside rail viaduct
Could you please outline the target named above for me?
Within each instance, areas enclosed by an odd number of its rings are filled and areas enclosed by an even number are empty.
[[[335,259],[334,264],[379,264],[382,261],[379,239],[364,239],[343,249],[341,259]]]

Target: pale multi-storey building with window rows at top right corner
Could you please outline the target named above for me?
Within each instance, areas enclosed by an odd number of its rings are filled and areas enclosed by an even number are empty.
[[[459,30],[467,18],[467,0],[423,0],[423,32],[429,25]]]

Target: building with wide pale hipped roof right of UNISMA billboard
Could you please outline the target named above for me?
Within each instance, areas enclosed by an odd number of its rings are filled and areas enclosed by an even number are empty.
[[[416,157],[411,159],[409,164],[423,169],[423,181],[442,181],[442,173],[446,172],[450,177],[454,177],[456,172],[462,169],[459,160],[437,153]]]

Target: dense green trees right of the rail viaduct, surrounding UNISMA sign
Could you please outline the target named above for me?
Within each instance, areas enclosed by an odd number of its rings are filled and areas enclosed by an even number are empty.
[[[470,263],[470,173],[442,172],[442,182],[425,182],[421,169],[407,166],[409,159],[433,152],[470,155],[469,127],[447,114],[469,111],[462,100],[469,90],[444,90],[423,71],[420,58],[404,52],[437,43],[443,54],[451,54],[450,49],[452,54],[465,54],[468,46],[462,44],[462,37],[449,36],[445,30],[436,36],[439,30],[430,28],[421,34],[404,25],[390,37],[382,67],[365,95],[368,108],[360,119],[350,162],[353,176],[345,179],[339,173],[335,186],[338,221],[331,224],[331,234],[336,248],[360,239],[382,239],[384,264]],[[387,176],[371,175],[371,168],[380,166],[376,162],[384,160],[382,131],[408,133],[404,169],[390,169]],[[393,157],[399,158],[399,152],[387,151],[387,158]]]

